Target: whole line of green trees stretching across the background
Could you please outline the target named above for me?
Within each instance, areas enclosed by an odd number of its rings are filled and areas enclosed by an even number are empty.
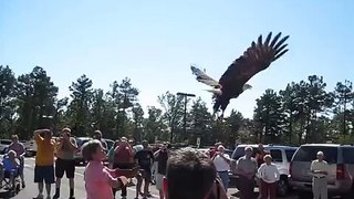
[[[257,100],[253,118],[232,109],[222,121],[212,117],[201,98],[188,102],[187,134],[184,134],[185,101],[166,92],[158,96],[160,108],[138,103],[138,88],[128,77],[114,81],[110,91],[94,88],[82,75],[70,86],[70,96],[59,98],[58,87],[46,72],[35,66],[30,73],[14,76],[0,65],[0,136],[18,133],[32,137],[39,127],[54,133],[70,126],[75,136],[92,136],[101,129],[106,138],[121,136],[136,142],[170,140],[201,147],[222,142],[235,143],[344,143],[354,142],[354,91],[352,82],[339,82],[327,91],[322,76],[291,82],[283,90],[267,90]],[[144,115],[144,111],[146,114]]]

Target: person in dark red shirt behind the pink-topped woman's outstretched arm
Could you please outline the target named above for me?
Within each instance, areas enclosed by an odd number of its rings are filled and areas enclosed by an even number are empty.
[[[115,148],[114,151],[114,163],[113,163],[113,168],[118,168],[118,169],[133,169],[135,166],[134,163],[134,154],[133,154],[133,148],[131,145],[127,143],[126,137],[122,137],[118,146]],[[122,187],[122,198],[126,198],[127,196],[127,190],[126,186]],[[113,190],[113,193],[115,196],[116,189]]]

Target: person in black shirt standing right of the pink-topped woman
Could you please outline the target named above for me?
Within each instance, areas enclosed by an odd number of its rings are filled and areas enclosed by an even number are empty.
[[[143,145],[144,149],[137,151],[134,156],[134,159],[137,161],[138,166],[140,167],[140,174],[137,176],[136,198],[138,198],[138,195],[140,192],[140,188],[143,185],[143,178],[145,180],[143,197],[144,198],[150,197],[149,191],[148,191],[148,187],[149,187],[149,182],[152,180],[152,165],[154,161],[154,154],[148,148],[147,140],[143,140],[142,145]]]

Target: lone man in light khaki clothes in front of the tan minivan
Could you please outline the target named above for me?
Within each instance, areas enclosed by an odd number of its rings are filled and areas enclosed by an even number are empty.
[[[323,151],[317,151],[317,159],[311,163],[312,191],[314,199],[327,199],[327,179],[329,164],[323,160]]]

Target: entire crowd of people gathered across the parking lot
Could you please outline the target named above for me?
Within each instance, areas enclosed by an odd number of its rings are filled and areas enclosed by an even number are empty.
[[[70,128],[63,128],[59,139],[52,139],[50,129],[34,130],[37,156],[34,182],[38,184],[38,196],[43,199],[44,188],[46,199],[51,197],[51,185],[55,184],[53,199],[60,198],[61,180],[66,174],[70,185],[70,199],[74,199],[74,154],[77,151],[75,138]],[[82,155],[87,165],[84,181],[87,199],[127,197],[127,186],[136,179],[135,198],[152,197],[150,184],[156,184],[160,199],[226,199],[229,188],[229,170],[239,176],[240,199],[256,198],[254,184],[259,185],[260,199],[274,199],[277,181],[280,174],[272,163],[272,157],[259,145],[256,157],[252,147],[244,148],[244,156],[233,160],[225,153],[221,143],[217,143],[207,153],[192,148],[171,151],[168,143],[162,143],[152,148],[146,140],[135,144],[122,137],[107,150],[107,144],[102,139],[102,133],[95,130],[93,139],[82,146]],[[106,151],[108,153],[106,155]],[[25,149],[17,135],[12,136],[6,158],[0,164],[1,170],[15,171],[25,187],[23,176]],[[54,154],[56,159],[54,158]],[[313,172],[313,192],[315,198],[326,198],[326,163],[323,153],[317,153],[317,159],[311,164]],[[108,157],[108,166],[104,161]],[[153,170],[154,179],[153,179]],[[12,172],[11,172],[12,174]],[[0,174],[0,181],[4,177]],[[144,185],[144,186],[143,186]],[[143,191],[142,191],[143,187]]]

